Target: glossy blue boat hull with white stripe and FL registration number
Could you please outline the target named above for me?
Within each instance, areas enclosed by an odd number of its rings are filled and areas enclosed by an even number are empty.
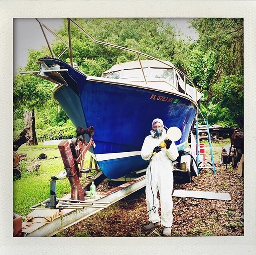
[[[167,92],[89,80],[68,64],[54,59],[44,62],[68,68],[62,77],[68,86],[60,86],[53,97],[74,126],[94,126],[96,147],[90,151],[106,177],[117,179],[148,166],[140,156],[144,138],[150,134],[152,120],[161,118],[166,127],[181,129],[176,141],[183,150],[188,141],[196,104],[188,98]]]

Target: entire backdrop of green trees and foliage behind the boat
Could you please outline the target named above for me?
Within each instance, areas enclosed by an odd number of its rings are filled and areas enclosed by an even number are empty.
[[[176,27],[161,19],[151,18],[75,18],[96,40],[138,50],[161,60],[172,62],[188,74],[199,90],[204,91],[201,111],[205,118],[222,126],[243,126],[243,19],[196,18],[190,23],[198,32],[195,42],[183,40]],[[55,31],[68,42],[67,20]],[[71,23],[73,61],[82,72],[101,76],[114,64],[137,60],[134,53],[92,42]],[[55,56],[66,46],[56,39]],[[50,55],[48,48],[29,50],[24,70],[38,70],[38,58]],[[60,59],[70,62],[68,50]],[[144,58],[142,58],[144,59]],[[50,98],[53,84],[33,75],[14,76],[14,132],[21,128],[25,109],[35,108],[36,129],[43,137],[56,137],[54,129],[62,127],[68,117]],[[207,94],[207,95],[206,95]],[[214,96],[217,96],[212,102]],[[212,115],[212,116],[210,116]],[[225,116],[224,116],[225,115]],[[18,122],[16,120],[20,119]],[[46,131],[47,129],[47,131]],[[42,130],[45,130],[43,132]],[[57,129],[56,129],[57,130]],[[58,128],[60,137],[71,133]],[[45,133],[45,134],[44,134]],[[58,138],[59,139],[59,138]]]

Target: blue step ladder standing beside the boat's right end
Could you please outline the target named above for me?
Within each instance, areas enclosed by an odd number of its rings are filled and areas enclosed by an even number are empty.
[[[202,125],[201,127],[198,127],[198,122],[205,123],[205,125]],[[202,138],[208,138],[209,147],[204,147],[204,145],[200,145],[200,139]],[[200,152],[200,149],[204,147],[204,149],[210,149],[209,152]],[[208,160],[201,160],[199,155],[210,155],[211,159]],[[214,166],[214,159],[213,159],[213,153],[212,153],[212,142],[211,142],[211,136],[209,131],[209,125],[208,120],[196,120],[196,163],[198,165],[197,172],[199,173],[201,169],[209,168],[212,169],[214,174],[216,173],[216,169]],[[203,163],[204,166],[200,166],[200,164]],[[210,166],[205,166],[205,163],[208,163]]]

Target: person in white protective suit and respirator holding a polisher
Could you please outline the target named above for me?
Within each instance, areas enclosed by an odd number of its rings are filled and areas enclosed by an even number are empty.
[[[161,119],[152,122],[151,135],[148,135],[141,149],[141,157],[149,161],[146,171],[146,202],[150,224],[145,226],[145,230],[160,227],[160,217],[158,215],[159,201],[157,192],[159,191],[161,202],[161,223],[164,227],[163,236],[171,235],[172,226],[172,187],[173,173],[172,161],[176,160],[179,153],[174,142],[166,139],[166,131]],[[160,142],[166,143],[166,147],[159,146]],[[152,156],[152,152],[156,152]]]

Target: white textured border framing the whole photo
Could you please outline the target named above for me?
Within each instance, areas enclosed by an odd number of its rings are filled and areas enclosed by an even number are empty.
[[[11,0],[1,1],[0,247],[3,254],[255,254],[254,169],[256,2],[222,0]],[[243,237],[12,237],[13,18],[244,18],[244,236]],[[254,82],[253,82],[254,81]]]

